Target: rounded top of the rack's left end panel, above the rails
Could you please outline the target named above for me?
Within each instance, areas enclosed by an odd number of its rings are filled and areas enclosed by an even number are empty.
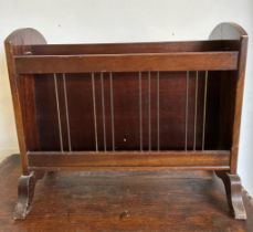
[[[46,40],[38,30],[23,28],[9,34],[4,43],[10,43],[12,45],[45,44]]]

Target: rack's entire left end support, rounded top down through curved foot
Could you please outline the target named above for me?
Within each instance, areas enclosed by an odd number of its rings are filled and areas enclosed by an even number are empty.
[[[12,32],[4,41],[7,63],[18,130],[22,176],[18,183],[18,203],[14,219],[24,219],[31,209],[36,180],[44,172],[28,170],[27,150],[39,147],[39,133],[35,117],[34,80],[31,75],[20,75],[15,72],[14,55],[31,53],[32,44],[45,44],[43,35],[34,29],[20,29]],[[25,89],[25,91],[24,91]]]

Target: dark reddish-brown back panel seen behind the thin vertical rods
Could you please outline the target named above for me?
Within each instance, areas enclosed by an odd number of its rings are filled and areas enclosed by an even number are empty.
[[[210,72],[211,75],[211,72]],[[217,82],[215,72],[213,80]],[[116,150],[139,150],[139,73],[113,73],[114,86],[114,128]],[[159,108],[160,128],[159,147],[161,150],[173,150],[185,148],[186,136],[186,76],[187,72],[159,72]],[[95,150],[94,115],[93,115],[93,91],[92,76],[89,73],[66,74],[66,91],[68,102],[70,134],[72,150]],[[105,124],[106,124],[106,148],[112,150],[112,113],[110,113],[110,85],[108,73],[104,77],[105,98]],[[103,115],[101,75],[95,74],[96,93],[96,116],[97,116],[97,144],[98,150],[104,150],[103,140]],[[199,106],[198,106],[198,128],[197,148],[201,148],[202,141],[202,113],[203,113],[203,81],[204,72],[199,72]],[[150,102],[151,102],[151,149],[157,150],[157,72],[150,73]],[[211,82],[211,81],[210,81]],[[64,104],[64,87],[61,74],[57,74],[59,99],[62,118],[62,135],[64,150],[67,146],[66,114]],[[194,92],[196,72],[189,73],[189,113],[188,113],[188,149],[193,146],[193,120],[194,120]],[[219,88],[219,83],[210,85],[208,93],[213,93]],[[41,148],[35,150],[53,151],[60,150],[57,110],[55,105],[53,75],[38,75],[35,78],[36,92],[36,115]],[[143,110],[143,149],[149,149],[149,117],[148,117],[148,73],[141,73],[141,110]],[[212,98],[217,101],[211,101]],[[208,119],[205,149],[229,149],[230,145],[222,144],[219,147],[217,128],[219,122],[213,120],[219,112],[219,93],[213,93],[208,101],[208,113],[212,118]],[[212,103],[212,105],[210,104]],[[225,104],[223,104],[225,105]],[[40,116],[40,117],[39,117]],[[210,125],[211,124],[211,125]],[[230,125],[229,125],[230,126]],[[171,136],[172,135],[172,136]],[[85,141],[85,143],[84,143]],[[34,149],[30,149],[34,150]]]

